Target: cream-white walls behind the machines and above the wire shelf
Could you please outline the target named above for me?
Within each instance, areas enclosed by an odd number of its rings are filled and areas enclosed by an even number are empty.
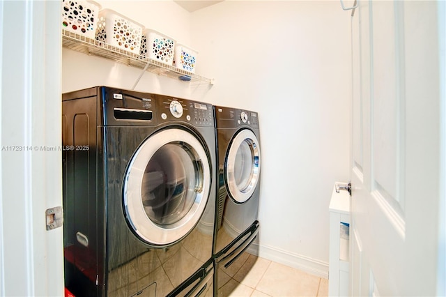
[[[173,1],[100,3],[198,50],[197,73],[216,79],[146,73],[137,90],[259,112],[261,256],[326,277],[330,194],[349,178],[349,13],[338,1],[224,1],[192,14]],[[64,92],[130,89],[140,73],[63,49]]]

